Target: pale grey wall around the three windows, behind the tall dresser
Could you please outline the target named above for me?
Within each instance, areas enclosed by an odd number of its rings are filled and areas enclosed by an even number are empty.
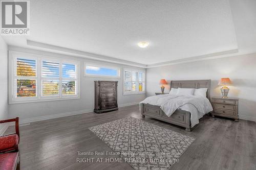
[[[47,118],[59,117],[62,115],[72,115],[77,113],[92,112],[94,109],[94,81],[95,80],[111,80],[118,81],[118,105],[126,106],[138,104],[145,99],[145,94],[123,95],[123,67],[131,67],[121,64],[114,64],[96,60],[89,60],[79,57],[65,56],[42,51],[29,50],[19,47],[9,47],[10,50],[47,55],[52,57],[69,58],[80,61],[80,99],[50,101],[50,102],[34,102],[23,104],[9,104],[9,117],[19,116],[21,123],[33,122]],[[96,78],[84,77],[84,62],[98,63],[103,65],[112,65],[120,67],[120,78]],[[138,68],[137,68],[138,69]],[[143,68],[139,68],[143,69]],[[6,94],[7,95],[7,94]]]

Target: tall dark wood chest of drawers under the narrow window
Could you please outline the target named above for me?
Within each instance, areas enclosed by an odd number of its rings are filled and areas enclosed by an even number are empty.
[[[95,104],[94,112],[118,110],[117,81],[94,81]]]

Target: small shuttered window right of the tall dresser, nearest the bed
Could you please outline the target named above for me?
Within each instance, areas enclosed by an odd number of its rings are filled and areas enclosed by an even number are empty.
[[[123,71],[123,94],[145,93],[145,71],[126,69]]]

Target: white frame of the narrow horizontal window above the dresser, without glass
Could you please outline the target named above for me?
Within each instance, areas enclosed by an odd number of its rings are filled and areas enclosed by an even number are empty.
[[[83,75],[84,77],[100,77],[100,78],[115,78],[115,79],[120,79],[120,67],[115,67],[115,66],[109,66],[109,65],[101,65],[101,64],[96,64],[96,63],[89,63],[89,62],[84,62],[84,67],[83,67]],[[86,72],[86,67],[87,66],[93,66],[93,67],[102,67],[102,68],[110,68],[110,69],[117,69],[117,76],[103,76],[103,75],[96,75],[96,74],[88,74]]]

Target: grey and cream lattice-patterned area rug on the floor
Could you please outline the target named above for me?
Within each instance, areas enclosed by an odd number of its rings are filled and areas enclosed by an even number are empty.
[[[195,140],[134,117],[89,129],[134,169],[168,169]]]

